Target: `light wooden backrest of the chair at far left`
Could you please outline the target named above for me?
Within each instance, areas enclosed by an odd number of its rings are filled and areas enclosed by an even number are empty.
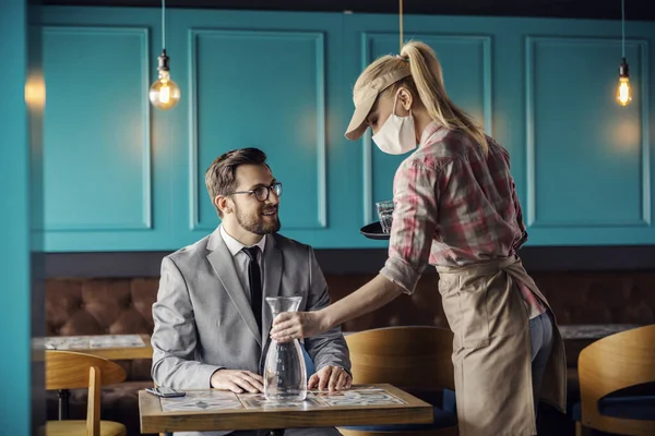
[[[124,379],[124,370],[107,359],[73,351],[46,350],[46,389],[88,388],[88,436],[100,434],[100,387]]]

